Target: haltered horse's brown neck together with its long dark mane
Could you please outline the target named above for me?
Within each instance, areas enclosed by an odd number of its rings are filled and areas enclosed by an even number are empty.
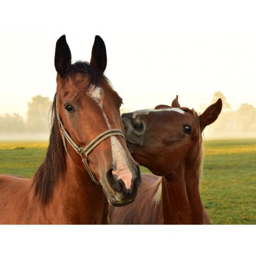
[[[54,103],[53,113],[55,108]],[[48,212],[46,216],[58,212],[63,222],[70,224],[104,224],[108,203],[102,187],[91,180],[77,152],[72,154],[74,149],[69,144],[67,146],[72,159],[77,163],[80,161],[80,166],[74,164],[65,151],[54,115],[44,163],[32,178],[34,197],[37,197],[44,212]]]

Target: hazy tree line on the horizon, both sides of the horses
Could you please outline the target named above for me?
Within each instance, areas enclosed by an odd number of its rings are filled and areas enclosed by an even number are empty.
[[[256,108],[249,103],[243,103],[238,110],[232,110],[222,92],[215,92],[211,103],[222,99],[223,107],[219,118],[210,127],[212,132],[249,132],[256,134]],[[49,97],[37,95],[27,103],[27,118],[17,113],[0,115],[0,133],[41,133],[49,132],[50,108],[53,102]],[[205,104],[201,105],[203,112]]]

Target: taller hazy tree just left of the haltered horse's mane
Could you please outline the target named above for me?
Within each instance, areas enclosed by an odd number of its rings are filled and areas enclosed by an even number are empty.
[[[49,111],[53,102],[49,97],[37,95],[27,103],[27,130],[30,132],[45,133],[49,131]]]

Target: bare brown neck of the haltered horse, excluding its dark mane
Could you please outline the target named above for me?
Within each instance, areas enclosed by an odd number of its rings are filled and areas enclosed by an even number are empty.
[[[84,167],[65,155],[67,169],[55,193],[67,207],[67,218],[77,224],[106,224],[108,202],[102,187],[92,181]]]

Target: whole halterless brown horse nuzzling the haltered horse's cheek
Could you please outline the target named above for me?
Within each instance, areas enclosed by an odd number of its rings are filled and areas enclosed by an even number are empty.
[[[177,96],[172,107],[122,115],[132,157],[155,175],[141,174],[134,203],[110,206],[110,224],[210,224],[200,197],[202,131],[221,108],[219,99],[198,116]]]

